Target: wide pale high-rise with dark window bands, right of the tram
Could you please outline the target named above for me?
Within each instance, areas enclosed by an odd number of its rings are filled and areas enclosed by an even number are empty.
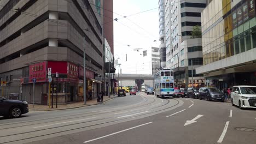
[[[201,26],[201,11],[206,0],[165,1],[166,65],[173,69],[177,87],[203,86],[203,75],[195,68],[202,65],[202,39],[191,38],[194,26]],[[193,64],[193,65],[192,65]]]

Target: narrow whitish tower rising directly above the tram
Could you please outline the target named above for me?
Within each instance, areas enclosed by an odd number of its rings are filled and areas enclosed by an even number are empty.
[[[159,40],[160,40],[160,62],[161,68],[166,68],[166,46],[165,46],[165,0],[159,0]]]

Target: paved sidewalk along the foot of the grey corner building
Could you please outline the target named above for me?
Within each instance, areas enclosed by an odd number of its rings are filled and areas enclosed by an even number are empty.
[[[115,97],[117,97],[115,95]],[[110,95],[110,98],[108,98],[108,96],[104,96],[103,97],[103,102],[106,102],[110,99],[115,98],[113,95]],[[54,104],[54,108],[51,109],[49,108],[48,105],[34,105],[33,104],[28,104],[28,108],[30,109],[30,111],[54,111],[54,110],[66,110],[66,109],[75,109],[78,107],[85,107],[85,106],[90,106],[90,105],[97,105],[97,104],[101,104],[99,102],[97,102],[97,98],[96,99],[92,99],[92,100],[88,100],[86,101],[86,105],[84,105],[84,101],[78,101],[78,102],[74,102],[71,104],[66,104],[66,105],[58,105],[58,108],[56,109],[56,105]]]

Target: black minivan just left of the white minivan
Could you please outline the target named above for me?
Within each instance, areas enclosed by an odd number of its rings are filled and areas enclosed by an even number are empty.
[[[208,88],[208,87],[201,87],[199,89],[199,98],[207,99],[209,101],[216,100],[216,101],[224,102],[225,100],[223,93],[221,93],[218,88]]]

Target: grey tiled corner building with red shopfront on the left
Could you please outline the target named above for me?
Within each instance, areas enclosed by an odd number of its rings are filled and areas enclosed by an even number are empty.
[[[104,66],[102,1],[4,0],[0,5],[0,77],[7,83],[2,96],[16,94],[32,103],[35,78],[34,102],[46,105],[51,68],[58,103],[83,100],[85,43],[86,90],[96,97]]]

